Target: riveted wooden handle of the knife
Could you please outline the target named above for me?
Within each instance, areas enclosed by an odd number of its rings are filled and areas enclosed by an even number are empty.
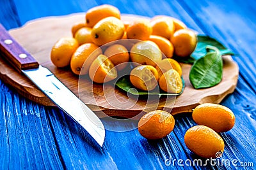
[[[0,55],[8,60],[10,64],[18,69],[18,71],[25,69],[38,68],[39,64],[34,57],[29,54],[22,46],[12,38],[3,25],[0,24]]]

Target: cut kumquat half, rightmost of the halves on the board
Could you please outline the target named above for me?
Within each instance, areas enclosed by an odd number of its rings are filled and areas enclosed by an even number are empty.
[[[159,79],[159,87],[168,93],[180,93],[182,80],[175,69],[169,69]]]

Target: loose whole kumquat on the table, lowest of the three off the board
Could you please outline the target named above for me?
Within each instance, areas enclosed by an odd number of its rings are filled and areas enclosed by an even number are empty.
[[[217,153],[223,153],[225,146],[221,136],[204,125],[188,129],[184,141],[189,150],[204,158],[216,158]]]

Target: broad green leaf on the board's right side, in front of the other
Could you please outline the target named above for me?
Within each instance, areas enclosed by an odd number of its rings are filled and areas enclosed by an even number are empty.
[[[223,74],[221,53],[215,46],[206,46],[206,55],[196,60],[189,73],[195,89],[213,87],[220,83]]]

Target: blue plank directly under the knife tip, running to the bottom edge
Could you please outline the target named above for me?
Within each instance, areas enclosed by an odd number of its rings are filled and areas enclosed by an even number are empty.
[[[67,169],[110,169],[115,162],[104,148],[60,110],[49,110],[49,120],[61,159]]]

